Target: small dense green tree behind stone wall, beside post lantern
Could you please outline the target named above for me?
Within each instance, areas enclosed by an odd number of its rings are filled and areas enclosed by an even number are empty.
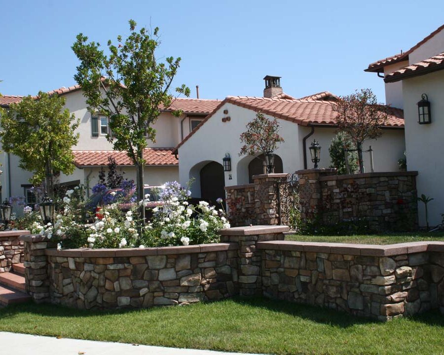
[[[329,147],[330,158],[332,160],[331,168],[337,169],[339,175],[354,174],[358,166],[358,157],[356,152],[348,152],[348,166],[350,171],[347,171],[345,164],[345,150],[353,149],[353,142],[350,137],[344,132],[338,132],[333,137],[332,144]]]

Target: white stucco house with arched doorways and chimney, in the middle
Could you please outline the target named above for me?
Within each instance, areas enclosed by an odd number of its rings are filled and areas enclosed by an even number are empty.
[[[253,156],[239,156],[239,137],[246,124],[257,112],[276,117],[280,135],[285,142],[275,151],[275,173],[290,173],[313,167],[308,147],[315,139],[322,146],[320,168],[331,165],[328,148],[336,134],[333,105],[337,97],[329,92],[295,99],[285,94],[280,77],[266,76],[263,97],[229,96],[224,99],[185,139],[174,153],[178,153],[179,179],[182,184],[190,178],[193,197],[215,200],[224,197],[224,187],[251,182],[261,174],[262,162]],[[373,149],[374,171],[398,171],[398,160],[403,157],[404,117],[399,108],[390,108],[389,119],[382,137],[369,140]],[[231,158],[231,171],[224,171],[222,159]],[[370,172],[370,155],[364,153],[365,169]]]

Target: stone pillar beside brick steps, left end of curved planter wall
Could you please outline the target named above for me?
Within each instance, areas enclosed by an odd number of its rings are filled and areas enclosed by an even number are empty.
[[[55,248],[57,241],[46,236],[23,235],[19,240],[25,243],[25,290],[36,302],[49,301],[49,274],[47,248]]]

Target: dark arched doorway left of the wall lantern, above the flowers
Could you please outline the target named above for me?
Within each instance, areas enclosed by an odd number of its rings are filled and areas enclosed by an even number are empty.
[[[217,206],[216,200],[225,200],[225,177],[222,164],[212,161],[200,170],[200,196]]]

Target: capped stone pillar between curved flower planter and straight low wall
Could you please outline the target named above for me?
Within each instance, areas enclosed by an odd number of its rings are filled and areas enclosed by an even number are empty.
[[[235,227],[220,230],[222,243],[238,243],[237,282],[241,296],[262,295],[260,277],[261,253],[256,248],[258,242],[284,240],[284,232],[290,230],[287,226],[259,225],[250,227]]]

